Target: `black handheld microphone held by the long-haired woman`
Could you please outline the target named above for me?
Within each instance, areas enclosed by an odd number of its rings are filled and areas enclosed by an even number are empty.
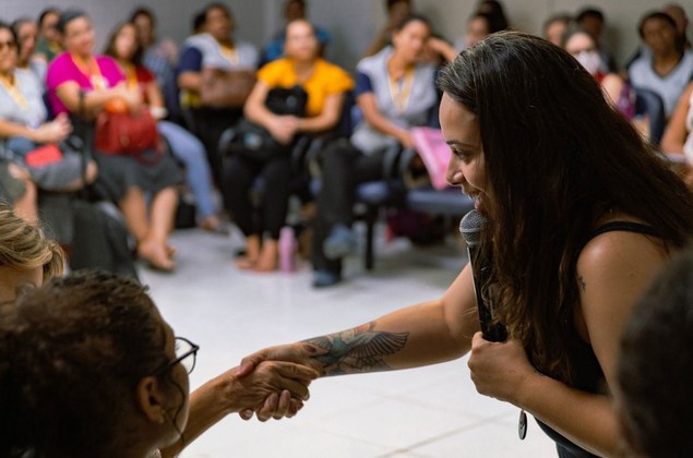
[[[502,342],[507,338],[505,326],[493,324],[493,304],[487,303],[481,294],[481,285],[485,285],[491,276],[491,263],[490,260],[476,260],[477,249],[479,248],[486,222],[486,217],[478,210],[473,209],[459,221],[459,233],[462,233],[465,242],[467,242],[467,253],[469,255],[469,264],[471,265],[474,294],[477,298],[481,333],[486,340]]]

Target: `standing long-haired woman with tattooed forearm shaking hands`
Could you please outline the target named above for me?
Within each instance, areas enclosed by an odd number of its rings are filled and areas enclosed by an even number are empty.
[[[467,264],[440,299],[261,350],[243,373],[271,359],[327,376],[470,352],[477,390],[534,414],[559,456],[614,455],[620,333],[693,234],[693,196],[595,79],[541,38],[491,35],[443,69],[439,86],[447,180],[488,219],[474,261],[490,266],[479,293],[507,339],[479,333]]]

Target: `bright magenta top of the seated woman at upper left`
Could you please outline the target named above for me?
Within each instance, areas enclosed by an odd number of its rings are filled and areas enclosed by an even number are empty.
[[[118,63],[108,56],[95,56],[96,64],[101,73],[101,81],[105,88],[113,87],[118,83],[126,80],[124,74],[118,67]],[[58,97],[57,89],[62,84],[74,81],[86,92],[94,91],[94,76],[89,79],[80,70],[72,60],[69,52],[63,52],[53,59],[48,67],[46,74],[46,87],[48,93],[48,103],[53,114],[69,113],[70,110]]]

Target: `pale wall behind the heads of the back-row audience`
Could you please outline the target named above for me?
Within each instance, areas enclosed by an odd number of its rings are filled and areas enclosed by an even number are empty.
[[[477,0],[414,0],[428,15],[437,32],[454,39],[463,34]],[[284,0],[225,0],[237,19],[238,36],[261,46],[277,28]],[[194,0],[0,0],[0,19],[12,21],[21,15],[37,16],[47,5],[86,10],[99,31],[99,49],[113,24],[124,20],[136,5],[148,5],[159,21],[159,32],[182,40],[190,31],[192,15],[206,1]],[[545,19],[557,12],[574,13],[587,4],[598,5],[607,16],[606,38],[620,63],[638,44],[636,26],[644,12],[659,8],[666,0],[504,0],[513,25],[540,33]],[[328,28],[334,36],[328,58],[353,68],[375,29],[384,21],[384,0],[309,0],[309,16]],[[693,16],[693,4],[681,2]]]

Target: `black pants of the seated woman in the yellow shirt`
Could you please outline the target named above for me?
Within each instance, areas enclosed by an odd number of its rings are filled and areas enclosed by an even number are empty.
[[[252,198],[255,179],[262,179],[260,207]],[[286,221],[291,180],[288,155],[254,160],[236,155],[224,167],[222,192],[227,209],[246,237],[268,233],[278,240]]]

